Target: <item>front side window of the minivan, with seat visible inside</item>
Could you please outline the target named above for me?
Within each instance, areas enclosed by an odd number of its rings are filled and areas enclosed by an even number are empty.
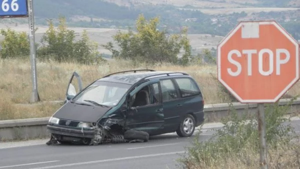
[[[134,95],[134,101],[132,103],[133,107],[145,106],[148,104],[155,104],[159,102],[159,88],[158,83],[150,84],[139,91]]]

